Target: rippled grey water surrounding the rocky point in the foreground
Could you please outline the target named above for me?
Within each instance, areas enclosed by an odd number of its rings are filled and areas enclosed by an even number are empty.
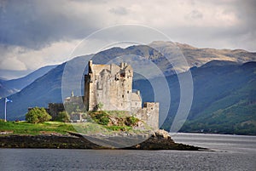
[[[0,170],[256,170],[256,137],[174,134],[214,151],[0,149]]]

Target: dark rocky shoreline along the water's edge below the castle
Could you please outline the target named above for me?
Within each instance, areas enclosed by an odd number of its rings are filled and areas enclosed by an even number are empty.
[[[48,148],[48,149],[114,149],[96,145],[84,138],[81,134],[5,134],[0,136],[0,148]],[[201,151],[207,150],[193,145],[175,143],[171,136],[164,130],[158,130],[148,140],[138,145],[122,149],[131,150],[181,150]]]

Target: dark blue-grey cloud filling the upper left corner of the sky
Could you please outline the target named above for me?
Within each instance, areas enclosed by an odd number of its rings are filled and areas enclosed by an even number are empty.
[[[52,42],[85,37],[96,30],[96,17],[76,14],[72,2],[56,2],[2,1],[0,43],[43,48]]]

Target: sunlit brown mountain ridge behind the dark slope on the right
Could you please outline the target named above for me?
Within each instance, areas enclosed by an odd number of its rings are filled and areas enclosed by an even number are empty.
[[[256,61],[256,53],[242,49],[195,48],[188,44],[155,41],[148,44],[165,56],[172,56],[173,52],[182,53],[188,61],[189,67],[202,66],[212,60],[229,60],[236,63]]]

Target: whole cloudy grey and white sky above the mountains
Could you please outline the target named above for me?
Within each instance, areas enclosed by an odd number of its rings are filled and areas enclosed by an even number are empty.
[[[255,9],[254,0],[0,0],[0,71],[13,74],[0,77],[61,64],[84,37],[127,24],[197,48],[256,52]]]

